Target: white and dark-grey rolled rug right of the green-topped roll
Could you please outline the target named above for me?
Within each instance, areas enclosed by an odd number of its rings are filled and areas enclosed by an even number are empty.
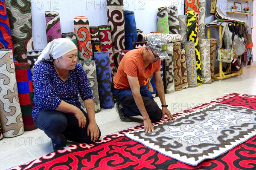
[[[168,11],[168,22],[169,22],[169,32],[170,34],[180,34],[180,23],[178,20],[178,10],[177,6],[169,6]]]

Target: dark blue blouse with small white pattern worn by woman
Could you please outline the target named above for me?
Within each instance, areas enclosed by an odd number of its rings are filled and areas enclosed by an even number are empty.
[[[93,94],[89,86],[87,75],[81,64],[76,64],[74,70],[70,70],[70,75],[66,81],[61,80],[52,62],[39,63],[33,72],[34,102],[32,118],[43,109],[57,109],[61,100],[81,108],[78,93],[81,99],[93,99]]]

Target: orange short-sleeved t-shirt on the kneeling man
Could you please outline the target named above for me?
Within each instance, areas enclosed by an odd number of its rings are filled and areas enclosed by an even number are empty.
[[[130,89],[127,75],[137,77],[141,86],[146,78],[154,72],[160,71],[161,61],[150,63],[145,69],[142,57],[143,49],[133,49],[122,58],[113,80],[115,89]]]

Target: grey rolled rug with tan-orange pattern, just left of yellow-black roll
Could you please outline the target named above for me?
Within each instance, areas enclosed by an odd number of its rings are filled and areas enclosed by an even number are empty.
[[[185,49],[186,55],[186,70],[188,75],[189,87],[197,87],[197,72],[195,59],[195,43],[194,41],[186,41],[182,43],[182,48]]]

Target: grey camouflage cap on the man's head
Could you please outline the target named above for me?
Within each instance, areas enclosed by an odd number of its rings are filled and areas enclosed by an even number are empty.
[[[157,52],[157,55],[162,59],[170,59],[166,50],[167,50],[167,41],[163,37],[160,37],[157,34],[150,35],[148,37],[147,45],[154,49]]]

